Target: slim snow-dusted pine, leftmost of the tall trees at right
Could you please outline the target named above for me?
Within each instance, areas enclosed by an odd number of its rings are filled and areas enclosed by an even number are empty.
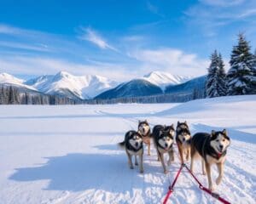
[[[217,50],[213,52],[211,55],[211,64],[208,68],[208,75],[207,75],[207,98],[218,97],[218,54]]]

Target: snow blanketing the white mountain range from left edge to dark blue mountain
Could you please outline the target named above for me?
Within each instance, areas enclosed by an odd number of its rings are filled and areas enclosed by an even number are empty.
[[[17,87],[37,90],[44,94],[65,94],[69,90],[80,99],[91,99],[102,92],[113,88],[117,82],[97,75],[73,76],[67,71],[56,75],[44,75],[28,81],[21,80],[9,74],[0,74],[0,84],[12,84]]]

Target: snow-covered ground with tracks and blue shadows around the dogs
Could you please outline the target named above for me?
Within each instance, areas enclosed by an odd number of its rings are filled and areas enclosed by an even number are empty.
[[[226,127],[232,140],[216,192],[231,203],[255,203],[256,95],[185,104],[0,106],[0,203],[160,203],[177,173],[177,154],[165,175],[152,147],[141,174],[116,145],[145,118],[187,120],[192,133]],[[207,186],[197,164],[195,174]],[[218,201],[183,170],[169,203]]]

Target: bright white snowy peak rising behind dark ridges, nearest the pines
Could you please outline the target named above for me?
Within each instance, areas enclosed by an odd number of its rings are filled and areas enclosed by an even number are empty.
[[[187,82],[191,77],[172,75],[164,71],[152,71],[148,75],[145,75],[143,79],[159,86],[164,91],[166,86]]]

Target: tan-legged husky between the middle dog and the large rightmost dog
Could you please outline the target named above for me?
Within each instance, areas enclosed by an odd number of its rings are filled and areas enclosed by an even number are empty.
[[[189,161],[190,142],[191,142],[191,134],[189,131],[188,123],[177,122],[176,143],[177,143],[177,149],[178,149],[182,163],[184,162],[183,154],[186,156],[186,160]]]

